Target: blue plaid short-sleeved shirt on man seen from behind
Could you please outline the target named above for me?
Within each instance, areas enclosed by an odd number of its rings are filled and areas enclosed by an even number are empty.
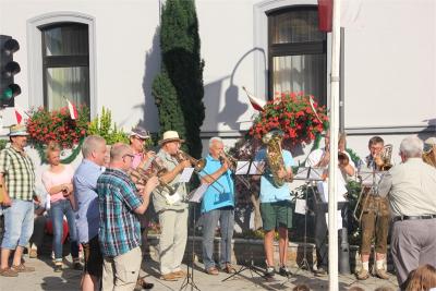
[[[133,211],[142,205],[137,189],[125,172],[107,169],[97,180],[101,253],[122,255],[141,245],[141,225]]]

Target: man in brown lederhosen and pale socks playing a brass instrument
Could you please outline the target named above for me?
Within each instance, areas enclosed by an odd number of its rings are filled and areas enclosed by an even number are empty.
[[[380,170],[385,161],[382,158],[385,141],[379,136],[374,136],[368,142],[370,155],[366,157],[366,167],[371,170]],[[361,257],[362,269],[356,274],[359,280],[370,278],[370,254],[371,241],[375,232],[375,275],[380,279],[389,279],[384,264],[387,253],[387,240],[389,231],[389,205],[386,197],[375,196],[374,189],[366,189],[365,196],[362,201],[366,201],[362,205],[362,244]]]

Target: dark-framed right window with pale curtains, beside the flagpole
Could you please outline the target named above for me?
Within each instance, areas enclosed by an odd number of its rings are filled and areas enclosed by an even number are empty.
[[[282,9],[268,16],[268,92],[304,92],[327,98],[327,40],[316,7]]]

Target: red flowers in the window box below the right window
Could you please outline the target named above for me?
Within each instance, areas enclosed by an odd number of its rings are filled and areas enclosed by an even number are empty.
[[[276,94],[254,121],[250,135],[261,138],[271,129],[281,129],[284,138],[293,145],[312,142],[317,133],[322,133],[328,126],[328,117],[325,107],[314,101],[314,108],[320,119],[318,120],[310,98],[313,97],[303,93]]]

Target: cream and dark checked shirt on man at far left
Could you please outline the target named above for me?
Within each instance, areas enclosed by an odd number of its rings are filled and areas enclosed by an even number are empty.
[[[0,153],[0,172],[11,199],[32,201],[35,190],[35,166],[32,159],[14,147]]]

